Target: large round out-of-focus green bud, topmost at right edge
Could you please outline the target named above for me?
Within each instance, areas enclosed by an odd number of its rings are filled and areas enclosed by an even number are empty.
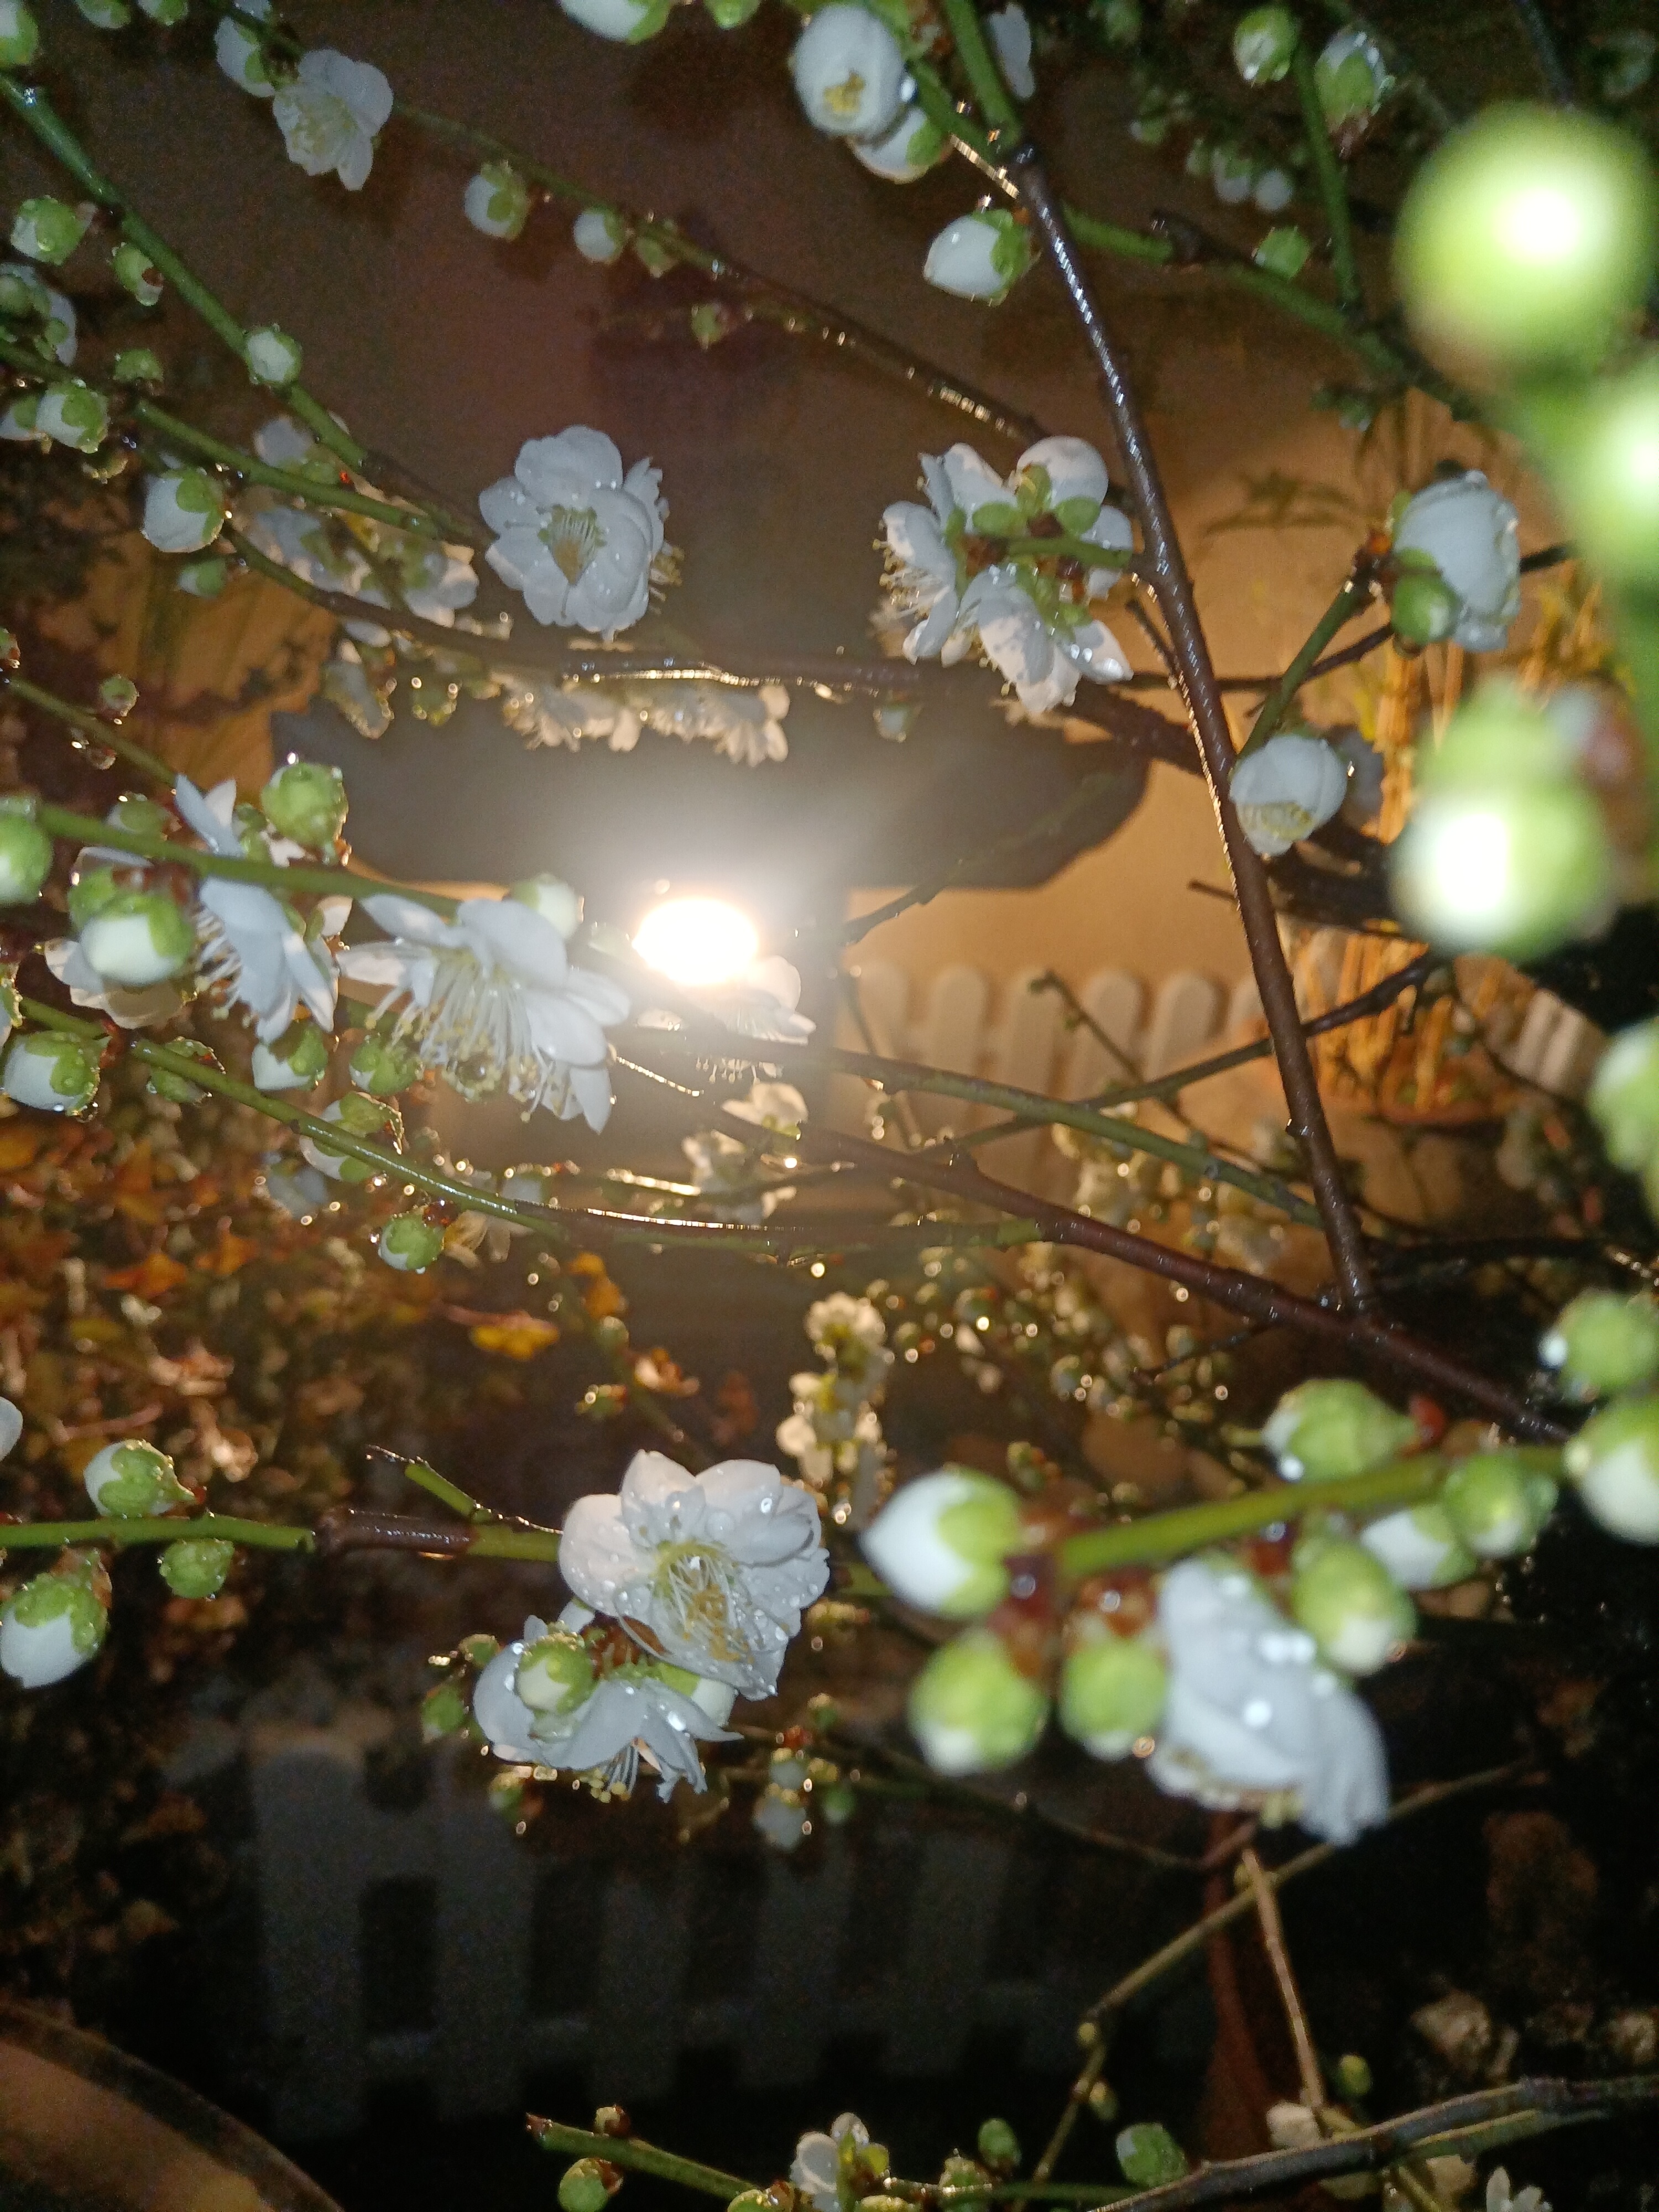
[[[1394,268],[1413,327],[1498,374],[1588,367],[1641,312],[1657,197],[1641,146],[1584,108],[1486,108],[1405,197]]]

